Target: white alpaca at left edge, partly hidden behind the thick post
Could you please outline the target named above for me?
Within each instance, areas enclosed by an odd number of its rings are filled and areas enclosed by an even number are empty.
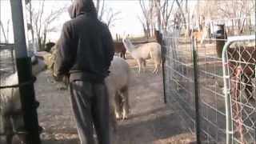
[[[46,69],[46,64],[35,57],[31,59],[32,62],[32,74],[34,76],[38,75],[42,70]],[[14,86],[18,84],[18,73],[15,72],[5,79],[2,79],[0,86]],[[11,142],[12,138],[12,125],[15,128],[22,128],[23,114],[22,114],[22,104],[20,100],[19,89],[16,88],[6,88],[0,91],[0,132],[7,133],[7,144]],[[10,134],[10,135],[8,135]],[[9,137],[9,138],[8,138]]]

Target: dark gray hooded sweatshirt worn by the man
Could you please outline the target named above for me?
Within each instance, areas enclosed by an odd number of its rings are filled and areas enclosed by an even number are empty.
[[[114,44],[108,27],[97,18],[92,0],[75,0],[62,28],[56,58],[57,75],[75,80],[103,82],[109,74]]]

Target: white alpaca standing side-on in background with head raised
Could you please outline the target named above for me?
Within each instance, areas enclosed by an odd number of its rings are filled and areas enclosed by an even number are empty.
[[[152,58],[154,61],[154,71],[153,73],[157,74],[161,61],[161,45],[158,42],[149,42],[146,44],[141,44],[138,46],[134,46],[130,40],[125,37],[122,40],[126,50],[131,54],[131,56],[137,61],[138,63],[138,73],[145,71],[146,67],[146,59]]]

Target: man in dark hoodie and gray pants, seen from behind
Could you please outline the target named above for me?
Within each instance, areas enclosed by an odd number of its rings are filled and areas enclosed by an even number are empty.
[[[56,58],[57,76],[70,79],[71,104],[82,144],[110,144],[109,100],[104,79],[114,44],[108,27],[97,18],[93,0],[75,0],[70,21],[62,28]],[[94,126],[93,126],[94,125]]]

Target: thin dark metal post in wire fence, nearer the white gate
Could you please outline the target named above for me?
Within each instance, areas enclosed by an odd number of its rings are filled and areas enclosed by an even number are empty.
[[[198,92],[198,54],[196,50],[196,39],[192,37],[192,58],[194,66],[194,107],[195,107],[195,130],[197,143],[200,144],[200,114],[199,114],[199,92]]]

